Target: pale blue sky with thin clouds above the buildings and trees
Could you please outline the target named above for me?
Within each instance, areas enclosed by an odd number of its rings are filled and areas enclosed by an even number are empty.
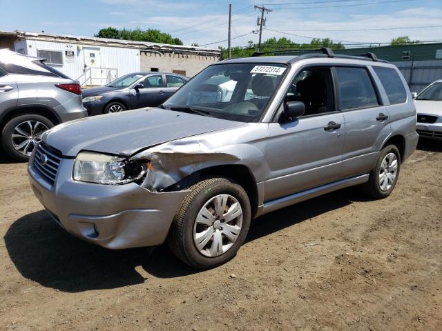
[[[442,0],[0,0],[0,30],[25,30],[92,37],[99,29],[155,28],[184,45],[227,46],[229,3],[232,46],[258,42],[256,19],[265,6],[262,39],[287,37],[298,43],[329,37],[346,47],[385,43],[408,35],[442,40]],[[355,45],[355,46],[354,46]]]

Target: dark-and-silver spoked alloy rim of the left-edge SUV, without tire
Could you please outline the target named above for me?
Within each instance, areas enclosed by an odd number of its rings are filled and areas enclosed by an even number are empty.
[[[46,130],[48,130],[48,126],[40,121],[23,121],[12,132],[12,146],[14,146],[17,152],[30,156],[32,150],[40,141],[41,134]]]

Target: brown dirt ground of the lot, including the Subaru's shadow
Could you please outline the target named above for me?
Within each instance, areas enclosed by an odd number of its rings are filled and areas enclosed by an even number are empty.
[[[226,265],[111,251],[61,230],[0,162],[0,330],[442,330],[442,143],[391,197],[340,190],[252,222]]]

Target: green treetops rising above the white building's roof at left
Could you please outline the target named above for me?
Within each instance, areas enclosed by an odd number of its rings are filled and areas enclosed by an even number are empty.
[[[182,41],[180,39],[173,38],[171,34],[164,33],[156,29],[141,30],[140,28],[136,28],[131,30],[124,28],[122,30],[117,30],[109,27],[99,30],[99,32],[95,34],[95,37],[182,45]]]

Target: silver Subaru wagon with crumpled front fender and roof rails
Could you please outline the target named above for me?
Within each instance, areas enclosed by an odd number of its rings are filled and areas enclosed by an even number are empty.
[[[267,212],[351,185],[388,197],[419,138],[407,83],[374,56],[323,51],[214,63],[160,108],[49,130],[31,186],[71,234],[167,241],[195,268],[231,259]]]

